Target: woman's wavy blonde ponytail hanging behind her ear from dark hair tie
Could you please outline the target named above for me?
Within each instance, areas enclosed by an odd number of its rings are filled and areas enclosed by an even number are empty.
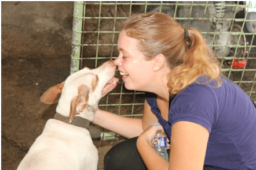
[[[202,75],[211,81],[217,81],[217,86],[222,84],[220,78],[220,64],[216,56],[207,44],[204,42],[202,35],[193,28],[189,29],[189,36],[185,38],[186,50],[182,55],[182,64],[174,66],[169,73],[169,87],[171,95],[175,95],[192,84]]]

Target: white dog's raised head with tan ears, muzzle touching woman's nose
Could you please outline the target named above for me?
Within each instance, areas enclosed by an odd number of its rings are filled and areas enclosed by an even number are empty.
[[[49,88],[43,93],[40,101],[53,104],[61,93],[56,112],[69,116],[70,123],[75,115],[93,121],[98,108],[98,101],[115,88],[118,78],[115,78],[116,66],[108,61],[97,69],[85,67],[71,74],[64,82]]]

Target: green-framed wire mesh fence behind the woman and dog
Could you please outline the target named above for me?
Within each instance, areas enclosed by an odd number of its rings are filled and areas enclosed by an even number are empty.
[[[256,103],[256,2],[74,2],[71,74],[114,60],[122,22],[136,13],[162,12],[184,28],[197,29],[220,56],[222,71]],[[130,91],[122,81],[104,97],[99,108],[140,118],[144,92]],[[120,139],[101,129],[101,140]]]

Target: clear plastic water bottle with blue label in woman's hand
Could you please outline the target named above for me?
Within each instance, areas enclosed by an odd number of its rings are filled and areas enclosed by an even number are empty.
[[[160,124],[160,123],[154,123],[153,125]],[[156,133],[155,138],[151,142],[151,145],[153,149],[156,150],[156,152],[164,158],[164,160],[169,162],[169,156],[167,154],[167,135],[163,131],[158,131]]]

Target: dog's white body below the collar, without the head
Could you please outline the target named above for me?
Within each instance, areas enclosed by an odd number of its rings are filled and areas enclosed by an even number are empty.
[[[50,119],[18,169],[97,169],[97,163],[88,130]]]

